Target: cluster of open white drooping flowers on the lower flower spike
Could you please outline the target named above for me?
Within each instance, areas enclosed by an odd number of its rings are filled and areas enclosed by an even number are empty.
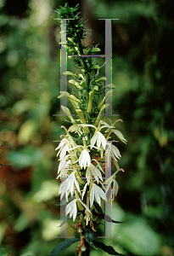
[[[68,111],[69,112],[69,111]],[[84,117],[85,118],[85,117]],[[118,184],[115,181],[115,174],[104,179],[103,164],[109,156],[115,162],[117,166],[117,172],[122,170],[119,168],[117,161],[121,158],[119,149],[107,142],[109,135],[115,133],[117,138],[120,138],[123,142],[126,139],[121,134],[121,131],[115,130],[114,125],[108,125],[104,121],[100,121],[98,126],[83,124],[82,120],[78,120],[80,124],[74,123],[69,130],[65,129],[66,135],[59,143],[59,171],[58,178],[66,177],[65,181],[60,184],[59,194],[61,199],[65,195],[68,202],[69,195],[74,196],[75,199],[70,201],[66,207],[66,214],[70,213],[70,217],[73,216],[73,221],[76,219],[77,206],[82,211],[85,209],[86,223],[92,218],[91,209],[93,207],[93,201],[96,200],[98,205],[101,206],[101,200],[106,200],[105,193],[107,193],[110,184],[113,182],[113,199],[118,191]],[[117,120],[118,121],[118,120]],[[90,134],[86,133],[85,127],[91,128]],[[74,133],[79,132],[82,139],[81,143],[77,143],[73,139]],[[89,138],[91,135],[91,138]],[[100,160],[98,161],[98,157]],[[107,161],[109,162],[109,161]],[[87,192],[89,200],[87,200]],[[84,203],[83,201],[86,201]],[[110,200],[110,199],[109,199]]]

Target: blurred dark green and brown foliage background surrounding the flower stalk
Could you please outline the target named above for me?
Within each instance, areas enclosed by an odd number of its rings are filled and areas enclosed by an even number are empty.
[[[61,0],[0,0],[0,243],[11,256],[50,253],[59,236],[55,148],[59,113]],[[69,1],[75,6],[77,1]],[[82,0],[81,17],[104,54],[112,22],[113,113],[121,151],[109,246],[129,255],[172,256],[174,247],[174,17],[172,0]],[[69,68],[69,67],[68,67]],[[114,120],[114,119],[113,119]],[[71,228],[70,228],[71,229]],[[104,228],[101,228],[101,232]],[[73,230],[70,230],[73,233]],[[59,255],[76,255],[77,244]],[[91,256],[104,256],[100,249]]]

